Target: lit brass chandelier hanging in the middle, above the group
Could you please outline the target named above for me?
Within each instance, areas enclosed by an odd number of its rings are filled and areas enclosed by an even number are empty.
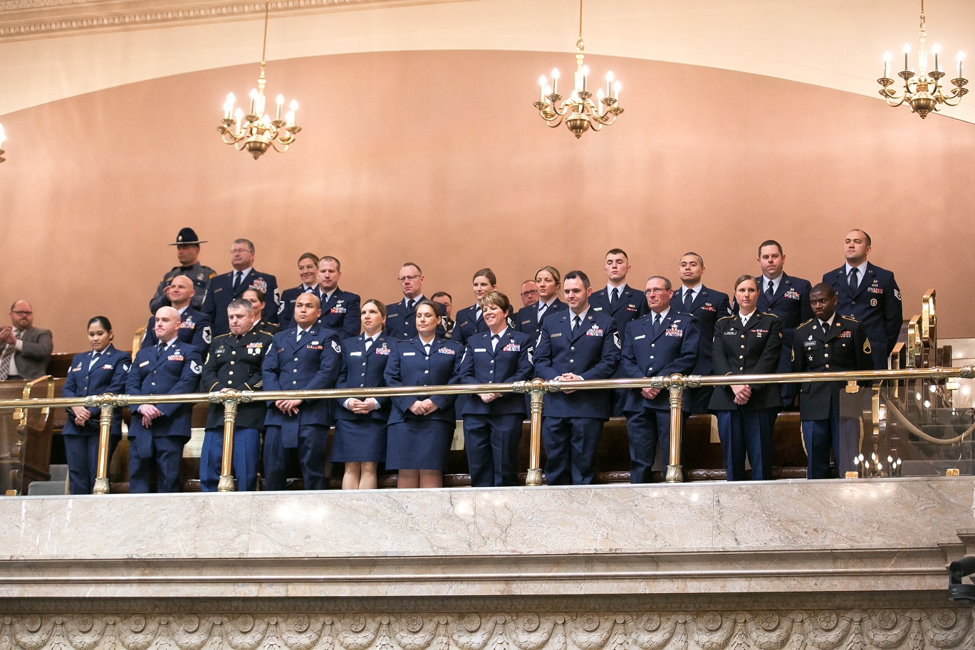
[[[544,75],[538,80],[539,97],[534,103],[538,114],[555,129],[565,122],[568,130],[581,137],[590,129],[599,131],[606,124],[612,124],[623,112],[619,107],[619,81],[613,83],[612,72],[606,72],[606,90],[596,92],[596,101],[589,90],[589,66],[585,64],[585,47],[582,43],[582,0],[579,0],[579,40],[575,42],[575,80],[571,94],[565,101],[559,95],[559,68],[552,70],[552,85]],[[562,101],[562,104],[559,102]]]

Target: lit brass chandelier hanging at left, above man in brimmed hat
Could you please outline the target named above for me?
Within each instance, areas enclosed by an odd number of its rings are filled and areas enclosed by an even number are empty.
[[[254,160],[273,147],[275,151],[288,151],[288,145],[294,141],[294,136],[301,127],[294,123],[294,114],[298,110],[298,103],[292,99],[291,110],[281,119],[281,110],[285,103],[285,96],[279,95],[275,101],[277,109],[275,118],[264,113],[264,66],[267,64],[267,17],[270,13],[271,2],[264,0],[264,45],[260,51],[260,76],[257,77],[257,88],[251,91],[251,109],[247,115],[241,108],[234,110],[235,97],[233,93],[227,95],[223,104],[223,124],[216,130],[220,132],[224,144],[233,144],[238,151],[247,149]],[[237,125],[240,125],[239,128]],[[284,127],[284,129],[282,129]]]

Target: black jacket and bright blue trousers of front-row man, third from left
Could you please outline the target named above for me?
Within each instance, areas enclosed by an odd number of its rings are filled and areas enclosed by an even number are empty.
[[[241,335],[215,336],[203,364],[200,385],[208,393],[224,388],[259,391],[264,384],[261,365],[273,347],[274,335],[254,325]],[[257,456],[260,432],[267,417],[267,402],[255,400],[237,406],[234,422],[233,474],[241,491],[257,489]],[[207,431],[200,452],[200,489],[215,491],[220,478],[223,454],[223,404],[215,402],[207,410]]]

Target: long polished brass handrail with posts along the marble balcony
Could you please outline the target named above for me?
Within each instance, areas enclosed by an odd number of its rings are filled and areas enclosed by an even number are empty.
[[[528,393],[531,397],[531,440],[527,485],[541,484],[540,448],[541,414],[545,393],[563,390],[604,390],[620,388],[659,388],[670,393],[671,408],[671,446],[667,467],[668,482],[683,480],[681,468],[681,434],[683,391],[699,386],[730,386],[732,384],[778,384],[805,382],[846,382],[847,391],[856,391],[858,381],[885,379],[934,379],[944,380],[953,377],[975,378],[975,365],[955,367],[913,367],[896,370],[856,370],[842,372],[777,372],[770,374],[739,375],[681,375],[645,377],[640,379],[601,379],[583,381],[560,381],[533,379],[531,381],[504,384],[455,384],[448,386],[394,386],[383,388],[327,389],[315,391],[228,391],[217,393],[187,393],[184,395],[98,395],[87,398],[49,398],[30,400],[0,400],[0,409],[28,408],[31,406],[99,406],[101,407],[100,436],[98,444],[97,494],[107,494],[107,449],[111,426],[111,415],[115,407],[130,403],[198,403],[211,402],[224,404],[224,453],[221,459],[219,491],[233,490],[233,477],[230,475],[230,460],[233,444],[234,419],[237,404],[246,401],[264,400],[322,400],[343,398],[403,397],[410,395],[469,395],[476,393]],[[28,402],[24,404],[23,402]]]

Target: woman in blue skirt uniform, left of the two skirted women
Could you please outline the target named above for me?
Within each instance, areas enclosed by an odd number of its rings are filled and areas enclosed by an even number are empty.
[[[386,339],[386,306],[367,300],[361,308],[363,333],[342,341],[342,366],[335,388],[381,388],[392,353]],[[335,436],[331,461],[345,463],[342,489],[376,487],[376,466],[386,460],[389,398],[348,398],[335,401]]]

